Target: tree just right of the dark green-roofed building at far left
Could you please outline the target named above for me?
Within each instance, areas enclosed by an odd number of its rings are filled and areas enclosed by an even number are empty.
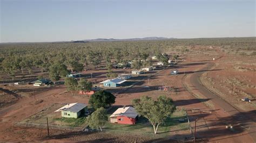
[[[65,77],[67,74],[68,70],[63,63],[55,63],[49,68],[49,77],[54,84],[60,79],[60,77]]]

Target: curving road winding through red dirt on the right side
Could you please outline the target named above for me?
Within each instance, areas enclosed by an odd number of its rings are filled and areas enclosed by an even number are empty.
[[[194,72],[191,75],[190,82],[194,87],[196,87],[201,94],[203,94],[206,98],[210,98],[212,102],[217,104],[220,108],[222,108],[225,112],[229,113],[231,118],[230,120],[226,120],[226,124],[239,124],[242,127],[250,127],[250,130],[247,130],[247,132],[251,135],[254,142],[256,142],[256,125],[255,125],[255,110],[254,112],[242,112],[238,109],[234,108],[230,103],[227,103],[222,98],[220,98],[218,95],[214,94],[213,92],[209,91],[202,85],[199,81],[199,77],[207,71],[207,69],[210,69],[212,66],[214,66],[213,62],[210,62],[207,64],[206,67],[200,69],[197,72]]]

